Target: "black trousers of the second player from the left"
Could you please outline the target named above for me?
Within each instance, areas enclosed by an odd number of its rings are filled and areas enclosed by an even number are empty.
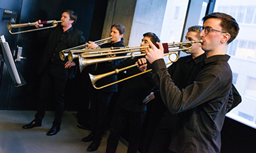
[[[101,139],[108,126],[108,109],[113,92],[94,92],[90,103],[90,128],[94,139]]]

